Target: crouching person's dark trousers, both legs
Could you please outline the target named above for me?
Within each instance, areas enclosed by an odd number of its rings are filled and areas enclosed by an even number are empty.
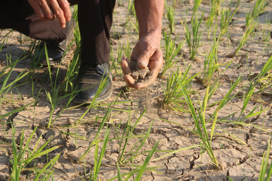
[[[109,60],[110,28],[115,0],[70,0],[78,4],[82,36],[82,65],[99,65]],[[58,21],[41,21],[27,0],[0,0],[0,29],[14,29],[34,39],[59,43],[67,30]]]

